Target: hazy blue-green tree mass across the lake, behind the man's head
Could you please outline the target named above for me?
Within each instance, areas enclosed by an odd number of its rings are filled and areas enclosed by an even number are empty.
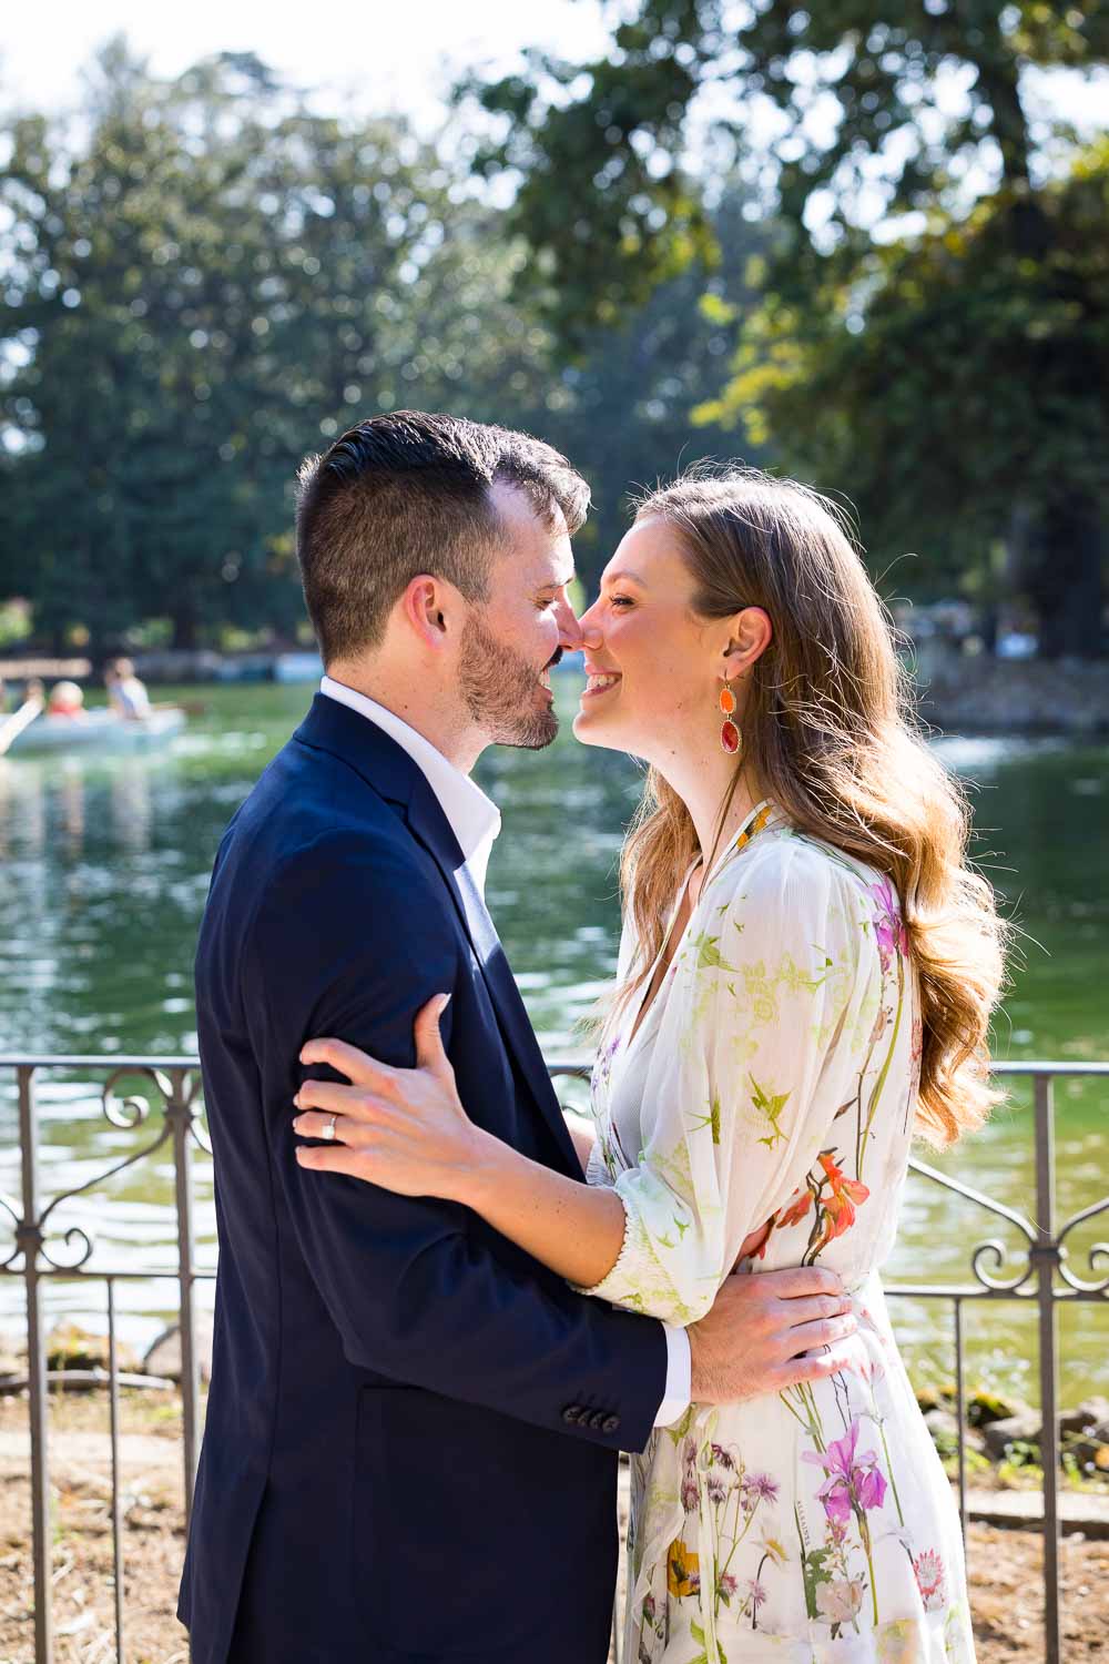
[[[160,82],[116,43],[90,116],[80,150],[18,120],[0,173],[20,587],[95,649],[158,616],[183,647],[289,629],[313,439],[540,398],[547,336],[500,300],[522,251],[402,125],[316,116],[253,57]]]

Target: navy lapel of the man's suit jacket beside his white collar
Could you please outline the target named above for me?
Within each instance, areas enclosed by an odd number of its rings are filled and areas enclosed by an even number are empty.
[[[579,1173],[574,1142],[562,1118],[547,1065],[504,947],[451,830],[451,822],[422,769],[369,717],[341,706],[336,699],[328,699],[326,694],[316,694],[313,707],[294,737],[304,745],[341,757],[381,797],[387,797],[404,809],[409,830],[431,854],[442,874],[462,929],[474,947],[500,1032],[530,1088],[535,1107],[547,1122],[570,1173]]]

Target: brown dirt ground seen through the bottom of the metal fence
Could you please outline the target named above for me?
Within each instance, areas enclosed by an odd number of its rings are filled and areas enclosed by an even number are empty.
[[[125,1401],[121,1443],[128,1664],[188,1664],[173,1617],[183,1551],[176,1399]],[[53,1611],[57,1664],[113,1664],[111,1483],[101,1396],[55,1401]],[[0,1399],[0,1664],[33,1664],[27,1404]],[[968,1558],[979,1664],[1042,1659],[1039,1538],[971,1524]],[[1062,1543],[1066,1664],[1109,1664],[1109,1541]],[[569,1661],[567,1661],[569,1664]]]

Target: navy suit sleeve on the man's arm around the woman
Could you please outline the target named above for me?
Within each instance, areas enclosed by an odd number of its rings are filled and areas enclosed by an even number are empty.
[[[642,1449],[663,1396],[662,1325],[499,1260],[457,1203],[396,1196],[294,1156],[298,1053],[333,1035],[414,1067],[412,1018],[481,970],[451,899],[416,855],[319,840],[268,885],[243,998],[264,1082],[271,1160],[299,1248],[356,1366],[584,1436]],[[442,1033],[452,1055],[452,1013]],[[334,1077],[331,1077],[334,1078]],[[462,1090],[466,1100],[466,1090]],[[482,1105],[467,1105],[482,1118]],[[574,1411],[574,1414],[570,1414]]]

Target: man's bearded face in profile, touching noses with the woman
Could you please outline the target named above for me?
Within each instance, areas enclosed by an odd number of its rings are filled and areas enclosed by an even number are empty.
[[[492,498],[509,536],[462,632],[459,691],[492,744],[539,750],[559,732],[550,671],[580,646],[567,599],[574,552],[565,524],[544,526],[522,491],[495,484]]]

